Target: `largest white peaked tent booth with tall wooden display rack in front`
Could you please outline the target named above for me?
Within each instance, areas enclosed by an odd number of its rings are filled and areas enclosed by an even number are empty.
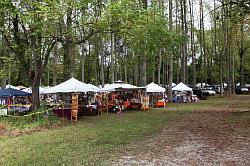
[[[48,104],[53,112],[60,117],[77,120],[81,115],[97,115],[98,87],[71,78],[45,91],[50,96]]]

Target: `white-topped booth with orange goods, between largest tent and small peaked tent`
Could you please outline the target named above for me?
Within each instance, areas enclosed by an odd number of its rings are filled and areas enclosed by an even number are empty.
[[[108,98],[108,110],[121,112],[124,109],[149,109],[149,97],[145,87],[137,87],[123,82],[104,86]]]

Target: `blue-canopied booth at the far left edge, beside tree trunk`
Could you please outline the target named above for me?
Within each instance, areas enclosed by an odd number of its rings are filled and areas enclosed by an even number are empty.
[[[0,115],[23,115],[31,110],[31,93],[7,88],[0,89]]]

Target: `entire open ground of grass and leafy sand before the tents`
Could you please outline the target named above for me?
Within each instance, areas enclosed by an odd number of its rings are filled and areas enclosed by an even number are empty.
[[[250,165],[249,95],[80,117],[18,135],[6,135],[8,125],[0,121],[0,165]]]

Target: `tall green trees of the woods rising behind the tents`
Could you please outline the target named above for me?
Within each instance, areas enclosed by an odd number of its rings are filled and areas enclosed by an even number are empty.
[[[245,0],[1,0],[0,81],[31,86],[35,108],[39,85],[72,76],[170,83],[170,98],[172,82],[227,83],[231,95],[250,82],[249,25]]]

